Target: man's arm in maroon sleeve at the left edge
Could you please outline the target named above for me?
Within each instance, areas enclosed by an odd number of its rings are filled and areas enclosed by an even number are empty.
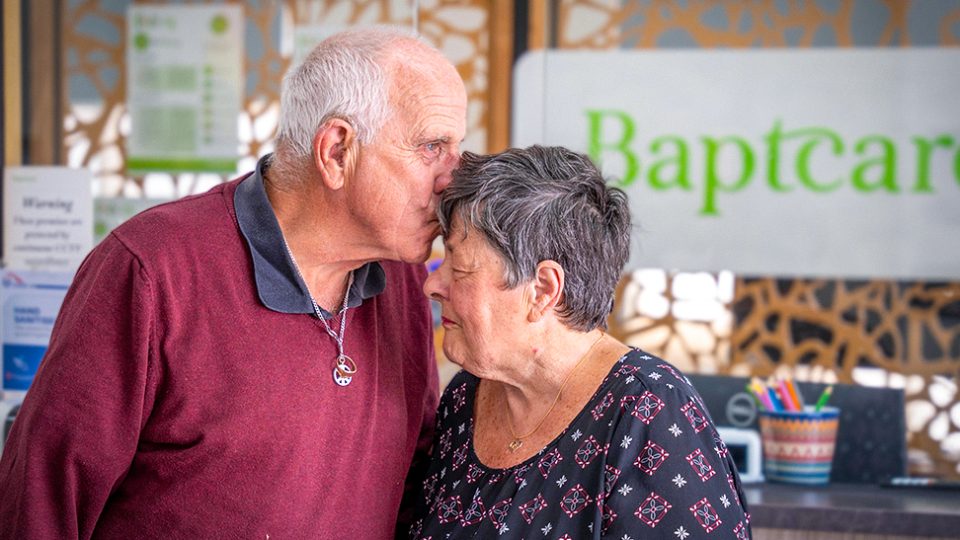
[[[0,460],[0,539],[93,534],[149,415],[154,306],[116,237],[81,265]]]

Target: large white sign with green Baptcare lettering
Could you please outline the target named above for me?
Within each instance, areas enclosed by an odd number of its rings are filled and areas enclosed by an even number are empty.
[[[960,277],[960,49],[549,51],[513,144],[624,187],[630,266]]]

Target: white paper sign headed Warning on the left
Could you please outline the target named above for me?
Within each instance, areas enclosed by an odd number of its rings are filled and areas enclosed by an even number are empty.
[[[90,171],[8,167],[3,182],[3,262],[9,268],[75,272],[93,247]]]

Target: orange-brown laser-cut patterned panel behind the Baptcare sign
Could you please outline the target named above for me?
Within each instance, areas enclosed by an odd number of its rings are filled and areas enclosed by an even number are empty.
[[[560,0],[552,32],[562,49],[944,47],[960,2]],[[611,330],[691,371],[905,388],[911,472],[960,477],[960,283],[741,277],[707,321],[677,316],[682,276],[626,277]]]

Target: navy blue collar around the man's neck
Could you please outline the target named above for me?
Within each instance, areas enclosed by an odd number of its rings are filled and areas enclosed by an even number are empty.
[[[313,314],[309,289],[284,247],[280,224],[263,187],[263,172],[270,166],[271,158],[270,154],[260,158],[256,170],[237,186],[233,195],[237,223],[253,257],[253,274],[260,302],[281,313]],[[353,271],[353,286],[350,287],[347,305],[359,306],[367,298],[383,292],[386,284],[386,275],[380,263],[371,262],[361,266]],[[340,306],[336,306],[336,309],[340,309]],[[325,319],[332,316],[325,309],[321,308],[321,311]]]

